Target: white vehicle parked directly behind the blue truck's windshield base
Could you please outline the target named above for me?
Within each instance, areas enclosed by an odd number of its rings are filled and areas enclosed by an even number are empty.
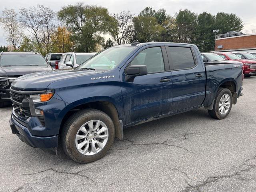
[[[96,53],[64,53],[58,64],[59,69],[78,67]]]

